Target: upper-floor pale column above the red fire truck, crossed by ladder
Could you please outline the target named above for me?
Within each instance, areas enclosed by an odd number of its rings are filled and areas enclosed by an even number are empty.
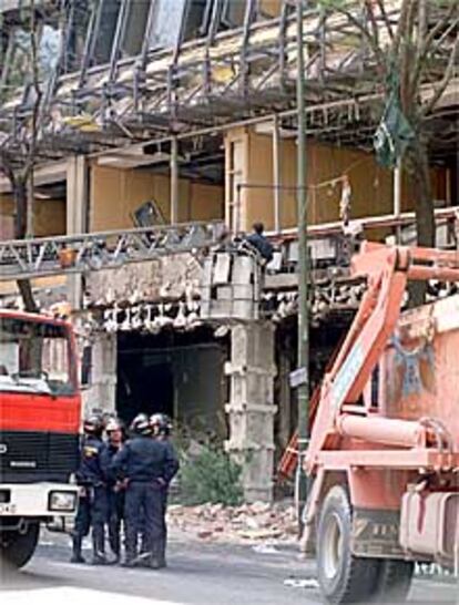
[[[86,230],[88,165],[84,155],[73,155],[67,161],[67,234]],[[81,276],[67,278],[68,298],[72,309],[81,307]]]

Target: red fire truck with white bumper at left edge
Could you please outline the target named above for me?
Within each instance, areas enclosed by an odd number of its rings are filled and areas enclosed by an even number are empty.
[[[81,399],[70,324],[0,310],[0,556],[23,566],[40,524],[74,513]]]

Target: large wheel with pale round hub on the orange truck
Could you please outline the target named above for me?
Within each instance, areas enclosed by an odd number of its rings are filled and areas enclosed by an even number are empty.
[[[350,550],[353,507],[346,489],[327,493],[317,532],[317,574],[320,591],[332,605],[368,603],[378,577],[378,561],[354,556]]]

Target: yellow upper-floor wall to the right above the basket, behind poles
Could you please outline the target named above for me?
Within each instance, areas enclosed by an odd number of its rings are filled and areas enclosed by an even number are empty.
[[[230,132],[227,140],[238,139],[245,150],[246,166],[241,191],[241,225],[248,230],[255,221],[262,221],[266,229],[274,228],[273,146],[272,136],[258,134],[253,129],[244,133]],[[226,153],[231,152],[228,145]],[[283,228],[294,227],[296,221],[296,142],[283,139],[280,142],[280,223]],[[226,166],[228,166],[226,162]],[[432,195],[445,199],[446,172],[432,168]],[[335,180],[347,175],[351,186],[351,218],[392,212],[392,173],[376,162],[373,154],[357,150],[307,143],[308,221],[310,224],[328,223],[339,218],[340,182]],[[266,187],[264,186],[266,185]],[[414,197],[405,175],[401,188],[401,209],[414,209]],[[237,202],[237,201],[236,201]]]

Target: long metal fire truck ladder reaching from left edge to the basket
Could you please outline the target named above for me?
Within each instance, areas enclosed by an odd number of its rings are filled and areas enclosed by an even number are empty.
[[[0,281],[115,269],[218,243],[222,221],[0,242]]]

